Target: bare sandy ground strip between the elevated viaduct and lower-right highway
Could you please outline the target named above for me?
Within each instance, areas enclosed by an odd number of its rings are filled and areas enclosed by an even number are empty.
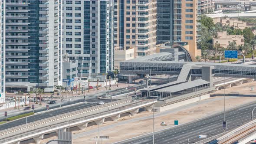
[[[256,82],[244,83],[243,85],[226,89],[226,109],[256,101],[256,90],[250,90],[255,85]],[[207,100],[198,101],[169,111],[155,113],[155,131],[174,127],[174,120],[179,120],[179,124],[185,124],[222,112],[223,93],[224,89],[212,93],[211,95],[214,96]],[[163,121],[167,124],[166,126],[161,126],[161,122]],[[102,140],[101,144],[118,142],[142,134],[151,133],[152,123],[152,112],[146,111],[139,112],[137,115],[131,116],[131,118],[129,118],[128,114],[123,114],[116,122],[106,119],[105,122],[100,125],[100,135],[109,136],[110,139],[108,139],[108,141]],[[94,137],[98,136],[98,125],[94,122],[88,124],[88,127],[83,131],[79,131],[76,127],[71,128],[71,131],[73,134],[73,144],[95,144],[95,141],[97,141]],[[56,138],[56,133],[48,134],[45,135],[41,143],[44,144],[50,139]],[[30,144],[32,141],[33,140],[26,141],[26,144]],[[25,144],[25,142],[21,144]]]

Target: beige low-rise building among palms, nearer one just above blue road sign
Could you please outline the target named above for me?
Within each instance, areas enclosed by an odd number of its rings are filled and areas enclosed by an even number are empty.
[[[227,35],[226,31],[218,32],[217,38],[213,38],[213,43],[220,43],[220,46],[226,48],[229,45],[229,42],[236,42],[236,46],[244,45],[243,35]]]

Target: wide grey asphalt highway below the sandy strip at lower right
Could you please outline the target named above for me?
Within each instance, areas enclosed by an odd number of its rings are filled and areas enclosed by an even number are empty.
[[[251,120],[251,111],[256,103],[244,105],[230,111],[226,111],[227,130],[237,128]],[[256,112],[254,112],[256,115]],[[211,137],[223,132],[224,113],[213,115],[199,121],[184,124],[154,134],[154,144],[187,144],[189,138],[190,144],[200,141],[199,135],[207,134]],[[132,131],[131,131],[132,132]],[[132,138],[122,141],[118,144],[152,144],[152,134],[142,137]],[[203,139],[202,139],[203,140]]]

